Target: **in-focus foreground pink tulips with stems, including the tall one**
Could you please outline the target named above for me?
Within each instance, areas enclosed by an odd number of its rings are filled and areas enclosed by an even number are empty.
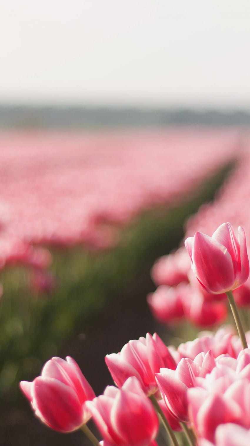
[[[158,414],[173,446],[175,432],[190,446],[249,445],[250,332],[242,330],[232,293],[249,275],[245,233],[240,227],[237,240],[224,223],[186,246],[202,288],[211,296],[226,293],[239,336],[225,326],[177,349],[157,334],[131,340],[106,355],[116,387],[97,397],[73,359],[52,358],[41,376],[20,383],[41,421],[61,432],[81,428],[95,446],[156,446]],[[101,442],[86,425],[90,417]]]

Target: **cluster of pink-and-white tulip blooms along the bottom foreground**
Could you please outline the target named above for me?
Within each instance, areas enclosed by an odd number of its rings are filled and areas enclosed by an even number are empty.
[[[52,429],[84,430],[93,417],[104,446],[156,445],[159,421],[148,398],[153,392],[173,431],[181,431],[184,423],[194,429],[199,446],[245,446],[237,438],[241,433],[249,439],[250,349],[240,349],[232,327],[177,350],[147,334],[106,359],[117,387],[107,386],[97,397],[70,357],[52,358],[41,376],[20,387],[36,416]],[[222,442],[229,432],[232,443]]]

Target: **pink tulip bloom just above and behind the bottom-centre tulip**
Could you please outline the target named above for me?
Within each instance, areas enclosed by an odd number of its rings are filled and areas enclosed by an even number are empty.
[[[156,333],[129,341],[119,353],[106,355],[105,362],[118,387],[130,376],[136,376],[148,396],[158,391],[155,373],[161,367],[176,368],[175,360]]]

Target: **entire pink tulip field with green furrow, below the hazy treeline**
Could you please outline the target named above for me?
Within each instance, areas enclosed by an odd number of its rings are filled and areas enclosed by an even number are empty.
[[[249,444],[249,144],[234,128],[0,133],[6,444]]]

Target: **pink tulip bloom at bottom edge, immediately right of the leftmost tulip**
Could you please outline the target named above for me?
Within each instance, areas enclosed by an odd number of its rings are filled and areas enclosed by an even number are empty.
[[[103,395],[86,406],[106,446],[149,446],[157,435],[158,417],[134,376],[120,389],[107,386]]]

